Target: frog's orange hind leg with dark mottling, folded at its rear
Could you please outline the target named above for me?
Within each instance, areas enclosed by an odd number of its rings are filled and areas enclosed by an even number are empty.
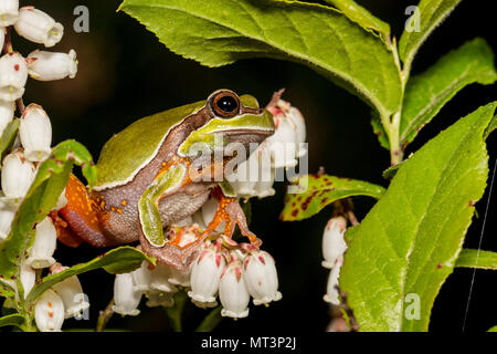
[[[95,201],[89,198],[86,187],[72,174],[65,186],[65,197],[67,204],[50,215],[62,243],[70,247],[77,247],[83,241],[93,247],[116,244],[104,236]]]

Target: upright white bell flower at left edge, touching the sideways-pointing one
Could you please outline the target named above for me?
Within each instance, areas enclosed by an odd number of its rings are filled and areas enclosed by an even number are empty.
[[[24,94],[28,65],[18,52],[0,58],[0,100],[15,101]]]

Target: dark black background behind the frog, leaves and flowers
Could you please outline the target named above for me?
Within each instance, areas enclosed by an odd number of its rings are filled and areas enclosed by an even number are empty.
[[[406,20],[404,10],[415,1],[359,1],[392,25],[400,37]],[[156,37],[123,12],[116,13],[115,0],[33,0],[65,27],[65,35],[51,50],[75,49],[80,71],[74,80],[41,83],[29,81],[24,101],[45,107],[53,123],[54,145],[66,138],[76,138],[88,147],[95,159],[104,143],[135,119],[181,104],[203,100],[220,87],[240,94],[251,93],[261,103],[274,91],[286,87],[285,98],[307,118],[309,170],[324,166],[331,175],[364,179],[387,186],[381,177],[389,162],[389,153],[381,148],[370,126],[370,108],[355,95],[337,87],[306,66],[265,59],[244,60],[233,65],[208,69],[191,60],[172,54]],[[85,4],[89,9],[89,33],[73,31],[73,9]],[[475,37],[485,38],[497,50],[495,12],[489,2],[463,1],[454,13],[421,48],[413,74],[433,64],[436,59]],[[28,54],[38,48],[14,35],[14,49]],[[209,50],[208,48],[205,50]],[[373,69],[372,69],[373,70]],[[445,105],[409,147],[408,154],[420,148],[437,132],[478,106],[496,98],[496,85],[472,85]],[[496,134],[488,139],[490,169],[496,159]],[[493,145],[494,144],[494,145]],[[284,186],[276,185],[274,198],[253,201],[252,230],[264,240],[264,249],[276,259],[283,300],[264,306],[251,308],[247,319],[236,322],[225,319],[220,332],[250,333],[253,330],[324,331],[329,322],[328,305],[322,301],[327,271],[320,267],[322,228],[330,217],[327,208],[318,216],[300,222],[282,222]],[[488,189],[488,188],[487,188]],[[488,190],[476,206],[475,219],[466,239],[466,247],[476,248],[482,231]],[[373,201],[355,199],[357,215],[362,218]],[[494,199],[494,210],[495,204]],[[497,250],[496,217],[489,211],[483,249]],[[86,261],[102,250],[82,246],[70,249],[59,246],[56,259],[71,266]],[[442,288],[432,314],[432,331],[462,331],[473,271],[456,269]],[[486,331],[497,324],[495,283],[497,275],[478,271],[475,279],[466,331]],[[96,323],[98,310],[112,299],[113,277],[103,270],[80,277],[91,299],[91,322],[68,320],[65,327],[87,327]],[[207,314],[189,304],[186,330],[192,330]],[[170,330],[160,309],[142,306],[138,317],[115,315],[109,327],[135,331]]]

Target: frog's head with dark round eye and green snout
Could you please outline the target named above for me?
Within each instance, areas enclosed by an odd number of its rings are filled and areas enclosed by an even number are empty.
[[[273,116],[251,95],[218,90],[208,97],[203,111],[204,124],[179,146],[180,156],[195,156],[199,146],[215,150],[232,143],[243,144],[248,150],[251,143],[261,144],[274,134]]]

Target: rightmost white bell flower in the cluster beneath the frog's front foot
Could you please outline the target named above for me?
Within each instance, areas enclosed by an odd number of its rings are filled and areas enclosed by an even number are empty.
[[[265,251],[252,251],[243,260],[243,278],[255,305],[282,299],[273,257]]]

